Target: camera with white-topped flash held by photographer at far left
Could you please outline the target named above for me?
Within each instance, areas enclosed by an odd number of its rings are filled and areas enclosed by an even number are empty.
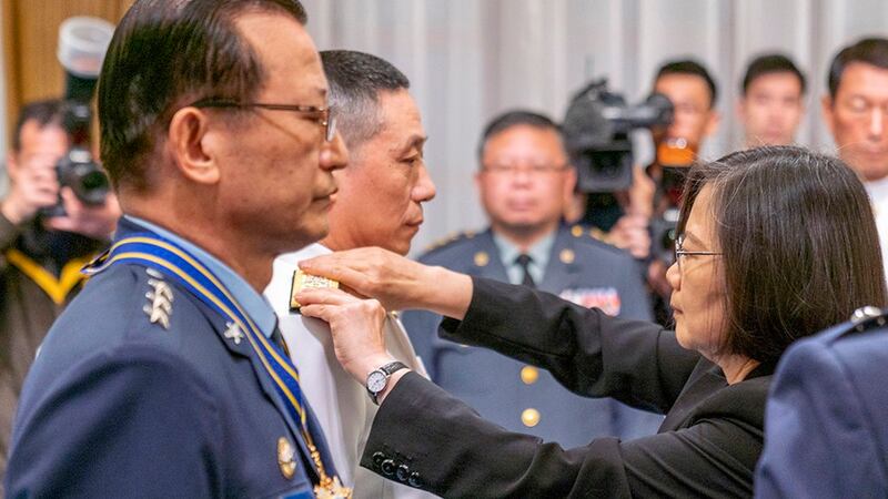
[[[87,205],[104,203],[110,190],[108,176],[92,155],[90,102],[113,33],[111,23],[89,17],[69,18],[59,28],[58,57],[65,70],[62,126],[71,146],[56,164],[56,175],[60,187],[71,187]],[[61,198],[44,215],[64,216]]]

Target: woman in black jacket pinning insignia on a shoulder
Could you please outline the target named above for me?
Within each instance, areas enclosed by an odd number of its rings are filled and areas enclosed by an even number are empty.
[[[667,274],[675,332],[381,249],[305,262],[390,309],[443,314],[444,337],[544,367],[577,394],[666,414],[657,435],[563,450],[484,421],[401,369],[379,383],[362,466],[444,497],[751,496],[780,354],[885,304],[872,212],[839,160],[763,147],[689,171],[678,233]],[[332,289],[297,299],[330,322],[359,380],[394,360],[379,302]]]

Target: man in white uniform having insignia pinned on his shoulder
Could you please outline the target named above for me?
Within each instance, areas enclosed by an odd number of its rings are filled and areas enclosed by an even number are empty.
[[[278,257],[265,296],[278,313],[284,340],[327,437],[340,477],[346,485],[354,483],[354,497],[433,497],[359,467],[376,406],[367,389],[336,361],[326,324],[291,309],[299,261],[362,246],[406,254],[423,221],[422,203],[435,195],[423,162],[426,135],[407,91],[407,78],[389,62],[366,53],[325,51],[321,59],[350,161],[344,170],[334,173],[339,193],[330,211],[329,236]],[[424,373],[395,312],[389,313],[385,335],[395,358]],[[410,476],[392,478],[405,483],[411,480]]]

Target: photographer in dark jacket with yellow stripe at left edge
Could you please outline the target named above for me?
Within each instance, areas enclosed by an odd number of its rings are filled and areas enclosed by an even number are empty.
[[[80,268],[107,244],[120,216],[113,194],[89,205],[71,186],[60,186],[57,164],[71,142],[67,105],[62,100],[26,105],[7,159],[10,190],[0,202],[0,476],[28,368],[83,284]],[[57,205],[64,215],[47,216]]]

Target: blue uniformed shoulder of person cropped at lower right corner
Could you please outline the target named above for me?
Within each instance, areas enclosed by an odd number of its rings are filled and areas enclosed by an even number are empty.
[[[888,315],[793,345],[765,411],[756,497],[888,497]]]

